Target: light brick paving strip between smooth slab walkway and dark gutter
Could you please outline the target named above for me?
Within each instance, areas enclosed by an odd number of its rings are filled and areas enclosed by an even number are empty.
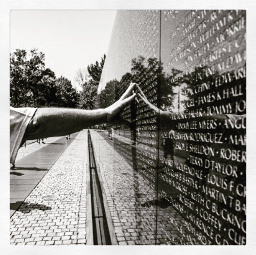
[[[10,219],[10,243],[86,244],[87,131],[82,131]]]

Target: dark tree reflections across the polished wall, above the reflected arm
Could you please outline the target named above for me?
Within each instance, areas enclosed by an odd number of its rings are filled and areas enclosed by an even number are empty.
[[[156,58],[145,60],[144,57],[139,56],[131,60],[131,71],[123,75],[120,81],[115,79],[106,84],[105,90],[99,94],[99,105],[100,107],[111,105],[128,88],[130,82],[138,83],[148,100],[157,105],[157,102],[152,100],[152,94],[150,93],[152,90],[148,90],[148,87],[155,82],[154,87],[159,86],[160,88],[158,90],[160,91],[158,95],[160,108],[169,112],[185,113],[189,109],[197,107],[188,107],[187,105],[187,102],[195,97],[194,91],[198,87],[208,88],[210,86],[212,88],[214,86],[212,84],[220,75],[230,76],[232,81],[236,76],[234,71],[222,74],[218,71],[212,72],[208,66],[195,67],[192,72],[188,73],[173,68],[170,74],[166,74],[163,72],[162,63],[160,65]],[[240,82],[243,81],[240,79]],[[230,86],[230,83],[225,86]],[[212,89],[218,90],[218,88]],[[202,89],[201,92],[196,93],[196,96],[205,93],[207,93],[207,89]]]

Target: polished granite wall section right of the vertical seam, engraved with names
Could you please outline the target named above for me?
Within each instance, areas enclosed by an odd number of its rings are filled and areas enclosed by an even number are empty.
[[[175,95],[161,101],[173,114],[161,126],[159,192],[182,215],[182,229],[170,218],[177,243],[246,243],[245,21],[245,11],[162,12],[162,73]]]

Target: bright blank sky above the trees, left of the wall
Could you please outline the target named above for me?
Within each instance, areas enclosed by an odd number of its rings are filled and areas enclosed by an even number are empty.
[[[10,51],[45,53],[46,67],[76,87],[78,69],[107,54],[116,11],[11,11]]]

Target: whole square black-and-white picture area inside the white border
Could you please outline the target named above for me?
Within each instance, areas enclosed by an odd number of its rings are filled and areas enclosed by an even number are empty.
[[[9,10],[11,249],[251,254],[248,10],[166,6]]]

